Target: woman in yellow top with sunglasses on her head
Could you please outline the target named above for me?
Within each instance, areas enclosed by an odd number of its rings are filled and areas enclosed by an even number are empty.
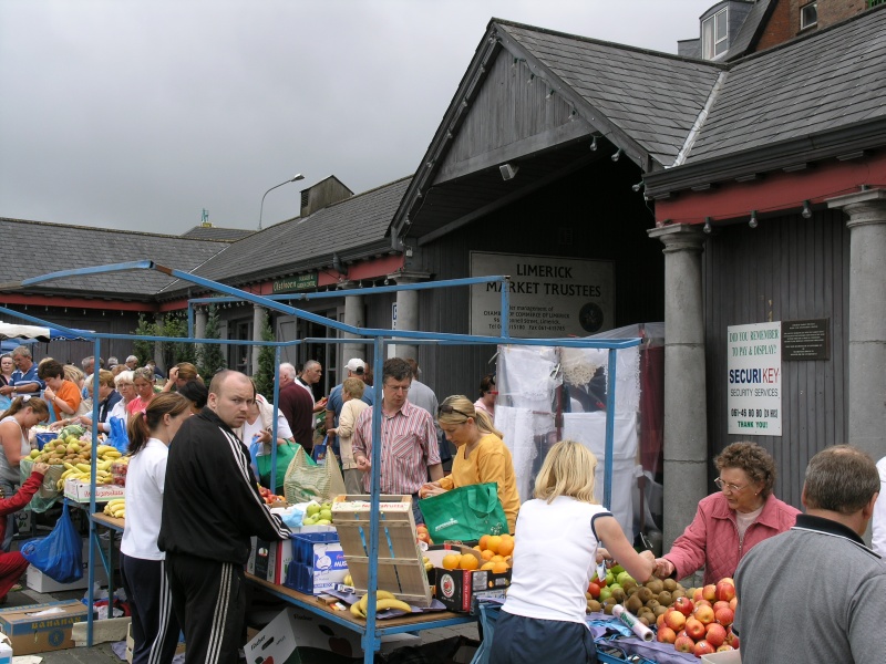
[[[436,496],[450,489],[494,481],[498,485],[507,528],[513,533],[519,510],[517,479],[511,450],[502,442],[502,432],[495,428],[490,416],[474,408],[466,396],[455,394],[440,405],[440,428],[455,447],[452,473],[424,485],[420,498]]]

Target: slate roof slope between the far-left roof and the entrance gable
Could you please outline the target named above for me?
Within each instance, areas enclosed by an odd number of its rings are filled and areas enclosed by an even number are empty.
[[[243,283],[317,269],[323,263],[320,259],[331,257],[333,251],[348,260],[367,251],[377,253],[380,246],[390,249],[388,227],[409,183],[406,177],[303,219],[281,221],[255,232],[227,246],[200,266],[196,274],[213,281]]]

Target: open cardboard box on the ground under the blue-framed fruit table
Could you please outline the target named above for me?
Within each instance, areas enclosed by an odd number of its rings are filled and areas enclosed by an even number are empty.
[[[381,652],[414,646],[421,637],[414,634],[390,634],[381,637]],[[290,606],[246,644],[246,661],[274,664],[295,664],[306,651],[332,652],[341,657],[362,658],[360,634],[313,613]],[[318,657],[317,661],[323,661]]]

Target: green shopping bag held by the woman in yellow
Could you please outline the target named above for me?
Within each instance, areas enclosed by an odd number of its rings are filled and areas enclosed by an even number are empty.
[[[459,487],[419,500],[424,525],[435,542],[476,540],[507,532],[507,518],[494,481]]]

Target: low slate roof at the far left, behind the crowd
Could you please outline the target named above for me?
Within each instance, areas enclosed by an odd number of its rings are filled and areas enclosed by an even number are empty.
[[[189,271],[227,242],[178,236],[0,218],[0,283],[20,282],[49,272],[101,264],[153,260]],[[155,270],[130,270],[69,277],[29,287],[28,292],[89,292],[114,299],[153,297],[176,280]]]

